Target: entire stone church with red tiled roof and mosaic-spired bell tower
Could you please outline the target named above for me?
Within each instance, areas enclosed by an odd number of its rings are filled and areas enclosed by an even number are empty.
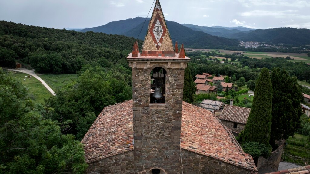
[[[86,173],[258,172],[214,114],[182,101],[190,59],[183,45],[172,46],[159,0],[141,52],[134,43],[127,60],[132,100],[105,107],[82,139]]]

